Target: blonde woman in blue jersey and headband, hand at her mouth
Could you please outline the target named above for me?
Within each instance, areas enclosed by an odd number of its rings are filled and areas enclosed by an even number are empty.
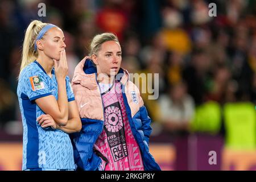
[[[81,120],[65,55],[63,31],[33,20],[23,43],[17,95],[23,123],[23,170],[73,170],[69,133]]]

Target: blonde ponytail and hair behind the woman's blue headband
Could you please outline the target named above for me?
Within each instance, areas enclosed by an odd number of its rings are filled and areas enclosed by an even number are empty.
[[[39,20],[33,20],[27,27],[22,50],[22,62],[20,65],[20,72],[32,61],[37,59],[38,52],[35,51],[34,44],[36,36],[38,36],[40,30],[48,23],[43,23]]]

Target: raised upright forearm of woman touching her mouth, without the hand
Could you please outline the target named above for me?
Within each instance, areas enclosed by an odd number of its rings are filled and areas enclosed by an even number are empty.
[[[59,125],[66,125],[68,121],[68,97],[65,78],[57,78],[60,118],[56,119]]]

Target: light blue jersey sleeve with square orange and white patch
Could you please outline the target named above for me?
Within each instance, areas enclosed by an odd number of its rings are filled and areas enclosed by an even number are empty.
[[[24,92],[30,101],[52,94],[47,85],[46,75],[40,72],[27,72],[23,75],[22,80]]]

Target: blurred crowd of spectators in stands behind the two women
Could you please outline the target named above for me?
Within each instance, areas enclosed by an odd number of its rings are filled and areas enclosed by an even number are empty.
[[[41,2],[45,17],[38,16]],[[209,16],[209,3],[217,16]],[[22,134],[16,86],[24,31],[34,19],[64,31],[71,80],[101,32],[118,36],[122,67],[130,73],[159,73],[159,98],[142,94],[153,135],[208,132],[200,117],[215,119],[209,127],[225,135],[230,103],[247,103],[255,114],[254,0],[1,0],[0,127],[7,133]]]

